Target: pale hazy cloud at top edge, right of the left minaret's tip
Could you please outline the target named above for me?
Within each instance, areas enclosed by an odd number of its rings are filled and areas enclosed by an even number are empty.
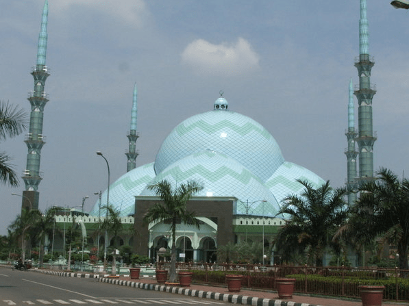
[[[105,14],[115,16],[119,21],[136,27],[142,25],[147,13],[144,0],[53,0],[49,5],[51,4],[60,13],[65,13],[64,11],[73,5],[86,5]]]

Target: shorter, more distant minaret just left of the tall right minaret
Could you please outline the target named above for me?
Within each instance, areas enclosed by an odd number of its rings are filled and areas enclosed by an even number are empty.
[[[355,138],[358,133],[355,130],[355,111],[354,111],[354,88],[352,87],[352,79],[349,81],[349,103],[348,103],[348,129],[345,133],[348,140],[348,149],[345,151],[347,155],[347,188],[348,188],[348,203],[352,205],[356,201],[356,151]]]

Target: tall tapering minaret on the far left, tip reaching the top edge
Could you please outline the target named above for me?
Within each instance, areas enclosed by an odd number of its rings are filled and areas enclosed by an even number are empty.
[[[27,166],[23,173],[25,191],[23,191],[22,209],[38,209],[38,185],[42,180],[40,173],[40,153],[45,144],[42,136],[42,120],[44,117],[44,107],[49,101],[48,94],[44,91],[45,80],[49,76],[48,68],[45,66],[47,53],[47,18],[48,0],[45,0],[42,10],[41,29],[38,37],[37,64],[32,69],[34,77],[34,91],[29,92],[28,100],[32,106],[29,121],[29,133],[24,142],[27,144]]]

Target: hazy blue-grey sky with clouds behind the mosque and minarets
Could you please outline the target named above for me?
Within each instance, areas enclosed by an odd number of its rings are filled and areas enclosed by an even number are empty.
[[[30,112],[43,0],[0,0],[0,100]],[[409,175],[409,12],[368,0],[375,60],[374,168]],[[229,109],[262,124],[284,159],[345,186],[348,86],[358,85],[359,0],[49,0],[40,210],[85,210],[126,172],[134,84],[136,166],[186,118]],[[357,109],[357,100],[354,97]],[[358,118],[356,110],[356,120]],[[356,123],[358,125],[358,123]],[[25,169],[25,133],[0,143]],[[24,183],[0,186],[0,235],[21,212]]]

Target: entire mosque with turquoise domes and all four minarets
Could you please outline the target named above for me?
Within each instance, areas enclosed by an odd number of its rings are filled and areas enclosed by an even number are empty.
[[[360,86],[354,94],[358,97],[359,131],[354,127],[354,103],[349,86],[347,187],[350,201],[355,199],[359,181],[373,178],[372,97],[370,71],[373,62],[368,54],[368,30],[366,0],[360,0],[360,60],[358,68]],[[40,183],[40,149],[45,143],[42,136],[42,112],[48,95],[44,92],[45,80],[49,76],[45,65],[47,49],[48,1],[42,14],[42,25],[38,42],[37,66],[33,71],[34,93],[32,103],[27,168],[23,179],[22,207],[38,207],[38,184]],[[134,87],[131,125],[127,135],[129,149],[127,173],[111,183],[99,194],[89,214],[77,216],[82,220],[88,245],[101,246],[104,237],[96,231],[106,216],[103,206],[107,203],[121,213],[124,227],[133,228],[132,233],[120,235],[119,243],[130,245],[135,253],[156,258],[158,249],[171,247],[169,224],[163,222],[143,226],[144,212],[160,201],[147,186],[166,179],[172,186],[190,180],[199,181],[203,190],[195,194],[188,203],[188,210],[195,212],[201,226],[179,224],[176,233],[178,260],[212,262],[216,260],[218,246],[229,242],[262,242],[264,255],[273,263],[274,249],[271,242],[277,230],[284,225],[286,216],[277,216],[280,203],[290,194],[300,194],[303,186],[297,180],[309,181],[320,186],[325,181],[312,171],[284,159],[280,146],[271,133],[262,125],[239,112],[234,112],[234,101],[227,102],[220,92],[209,111],[191,116],[179,123],[166,137],[156,158],[150,164],[136,167],[137,132],[137,89]],[[211,109],[212,108],[212,109]],[[356,151],[356,143],[358,150]],[[356,157],[359,159],[357,174]],[[29,199],[29,204],[27,203]],[[34,205],[32,205],[34,203]],[[71,222],[72,216],[55,216],[62,223]],[[84,234],[84,233],[83,233]],[[109,239],[109,238],[108,238]],[[110,241],[109,239],[108,241]],[[56,248],[55,248],[56,249]]]

